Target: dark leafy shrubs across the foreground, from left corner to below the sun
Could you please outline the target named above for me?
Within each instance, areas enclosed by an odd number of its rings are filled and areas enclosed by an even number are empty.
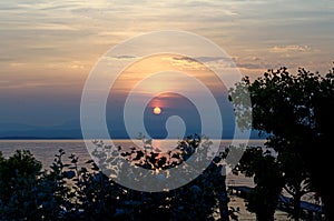
[[[148,147],[116,147],[117,151],[111,151],[112,147],[95,141],[94,154],[106,163],[112,164],[117,157],[148,170],[164,170],[180,167],[203,142],[210,144],[196,135],[181,140],[167,158]],[[67,158],[59,150],[50,169],[42,171],[29,151],[17,151],[8,159],[0,155],[0,220],[228,220],[225,175],[219,164],[223,153],[190,183],[161,192],[125,188],[92,160],[79,168],[77,155]]]

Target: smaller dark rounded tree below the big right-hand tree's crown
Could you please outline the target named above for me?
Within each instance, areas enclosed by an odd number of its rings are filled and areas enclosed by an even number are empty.
[[[273,221],[284,185],[283,173],[276,159],[268,151],[264,152],[261,147],[247,148],[234,172],[254,177],[256,185],[247,194],[247,210],[254,212],[258,221]]]

